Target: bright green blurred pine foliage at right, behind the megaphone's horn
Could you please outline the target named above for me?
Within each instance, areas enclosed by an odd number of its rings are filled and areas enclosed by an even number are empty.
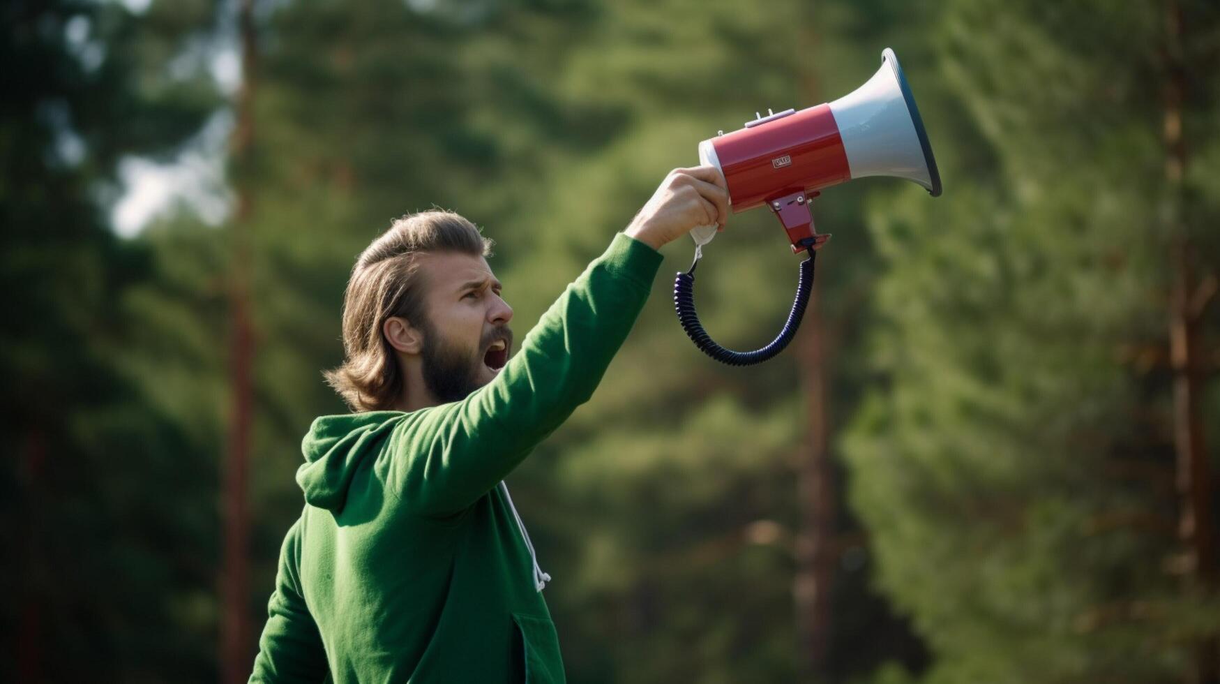
[[[1187,12],[1188,40],[1215,35],[1214,10]],[[1220,605],[1168,572],[1168,376],[1121,363],[1166,330],[1163,18],[956,2],[939,27],[969,115],[938,139],[952,200],[870,215],[886,382],[847,451],[881,584],[930,641],[930,682],[1174,680]],[[1192,88],[1187,144],[1210,156],[1214,83]],[[1218,256],[1200,241],[1200,265]]]

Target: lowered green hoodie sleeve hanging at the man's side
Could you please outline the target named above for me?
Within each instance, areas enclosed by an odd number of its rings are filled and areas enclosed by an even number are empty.
[[[309,682],[328,674],[326,651],[317,624],[305,607],[298,577],[300,520],[288,530],[279,551],[276,590],[267,605],[267,624],[259,639],[251,683]]]

